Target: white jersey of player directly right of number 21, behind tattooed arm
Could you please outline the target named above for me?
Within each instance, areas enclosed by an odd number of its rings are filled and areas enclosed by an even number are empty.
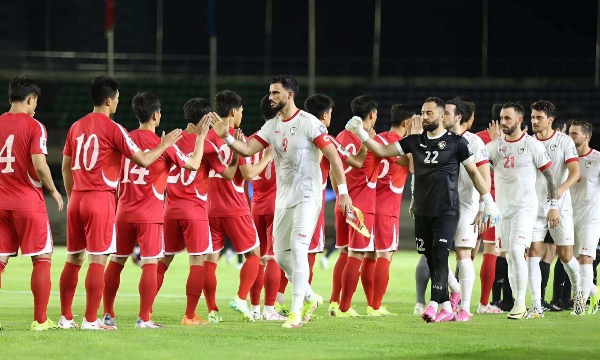
[[[566,167],[566,164],[571,161],[579,161],[577,148],[575,148],[573,139],[571,139],[571,136],[556,130],[554,130],[554,133],[548,139],[539,139],[537,134],[535,134],[535,138],[544,145],[546,152],[550,156],[550,160],[552,161],[551,169],[554,171],[556,185],[562,184],[569,177],[569,169]],[[535,182],[535,192],[538,194],[538,217],[545,217],[550,209],[550,202],[548,202],[546,177],[542,173],[538,173],[538,178]],[[560,197],[559,210],[561,215],[573,214],[571,193],[569,190],[566,190],[563,196]]]

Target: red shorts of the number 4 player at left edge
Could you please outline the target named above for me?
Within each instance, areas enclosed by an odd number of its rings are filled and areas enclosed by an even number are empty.
[[[0,209],[0,255],[52,253],[52,232],[46,212]]]

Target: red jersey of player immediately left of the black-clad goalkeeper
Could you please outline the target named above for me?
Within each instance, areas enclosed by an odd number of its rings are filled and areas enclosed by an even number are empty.
[[[383,131],[375,139],[384,145],[394,143],[402,137],[394,131]],[[408,166],[396,164],[398,157],[382,158],[377,175],[377,215],[400,217],[400,206]]]

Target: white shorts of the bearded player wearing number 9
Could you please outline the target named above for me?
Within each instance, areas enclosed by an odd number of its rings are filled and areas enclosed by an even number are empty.
[[[310,245],[319,218],[320,206],[314,202],[301,202],[292,208],[275,209],[273,219],[273,251],[290,250],[292,241]]]

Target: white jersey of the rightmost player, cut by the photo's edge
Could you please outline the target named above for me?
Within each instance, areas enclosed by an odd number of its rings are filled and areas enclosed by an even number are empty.
[[[592,149],[580,157],[579,170],[580,179],[571,187],[573,217],[577,220],[598,219],[600,218],[600,152]]]

